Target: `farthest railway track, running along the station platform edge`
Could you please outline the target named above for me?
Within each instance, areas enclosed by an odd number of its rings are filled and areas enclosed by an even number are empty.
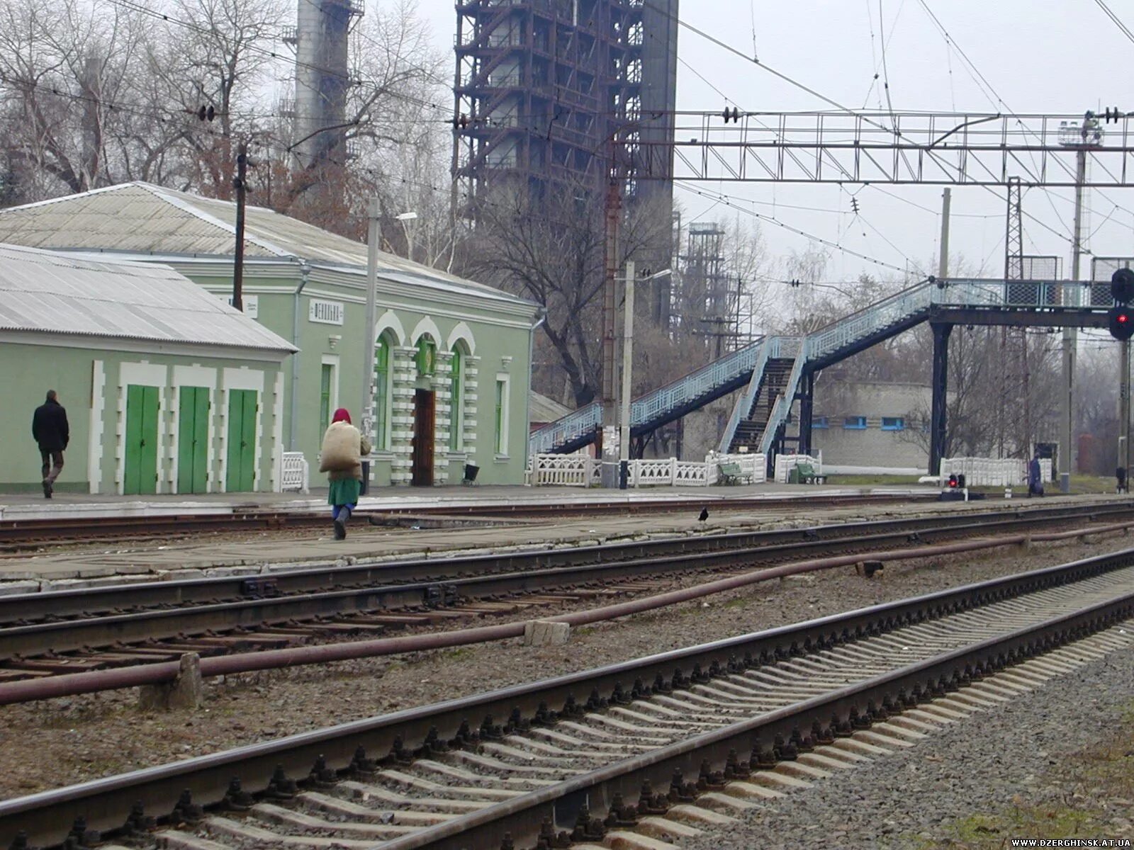
[[[840,504],[887,504],[896,502],[932,501],[936,494],[868,494],[868,495],[809,495],[806,505],[829,507]],[[476,520],[557,519],[561,517],[584,517],[596,513],[619,512],[621,515],[658,515],[687,511],[691,505],[717,504],[727,510],[767,509],[799,507],[799,498],[746,499],[706,495],[703,499],[651,499],[651,500],[595,500],[591,502],[565,502],[557,504],[456,504],[456,505],[407,505],[383,510],[363,510],[359,518],[372,517],[379,524],[399,525],[406,519],[425,521],[472,522]],[[259,507],[235,508],[217,513],[169,513],[145,517],[58,517],[51,519],[0,520],[0,552],[22,552],[76,542],[100,542],[109,539],[164,539],[201,533],[228,532],[273,532],[282,529],[324,528],[327,511],[265,510]]]

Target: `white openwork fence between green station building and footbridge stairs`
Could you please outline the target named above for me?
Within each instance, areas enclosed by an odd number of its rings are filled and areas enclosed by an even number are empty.
[[[720,478],[721,464],[738,464],[753,484],[767,479],[763,454],[717,454],[705,461],[659,458],[627,462],[627,485],[632,487],[708,487]],[[602,464],[589,454],[534,454],[528,461],[527,481],[535,486],[590,487],[601,481]]]

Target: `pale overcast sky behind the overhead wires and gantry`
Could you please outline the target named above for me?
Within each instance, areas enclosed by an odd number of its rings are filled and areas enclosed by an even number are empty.
[[[1108,5],[1134,28],[1134,3],[1109,0]],[[947,45],[926,6],[956,49]],[[439,48],[451,57],[456,31],[451,0],[420,0],[417,8],[430,22]],[[1134,43],[1095,0],[686,0],[680,15],[687,24],[745,54],[755,50],[761,62],[854,109],[885,108],[885,100],[880,103],[885,96],[881,79],[873,80],[875,70],[882,71],[885,33],[890,97],[898,112],[1005,111],[974,82],[957,49],[967,54],[1012,112],[1082,114],[1101,107],[1134,110],[1134,99],[1127,92]],[[725,107],[721,93],[742,110],[829,109],[687,28],[680,31],[678,57],[678,109],[720,111]],[[854,220],[848,194],[858,187],[708,184],[704,188],[735,196],[736,203],[747,209],[775,212],[786,224],[890,265],[925,267],[937,255],[940,218],[931,211],[940,209],[941,187],[883,187],[898,197],[868,187],[857,193],[862,221]],[[703,197],[679,193],[679,198],[687,221],[744,216]],[[752,205],[773,201],[775,211]],[[1134,254],[1134,213],[1129,212],[1134,211],[1134,192],[1093,192],[1090,207],[1089,232],[1095,232],[1089,247],[1099,255]],[[1068,274],[1070,190],[1031,189],[1024,197],[1024,210],[1067,235],[1060,238],[1025,219],[1025,253],[1058,254]],[[1002,275],[1004,190],[996,189],[993,196],[979,187],[955,188],[953,212],[951,253],[983,266],[988,277]],[[771,223],[762,227],[773,256],[806,247],[804,237]],[[832,250],[830,278],[846,280],[862,271],[898,274]],[[1088,261],[1083,277],[1089,273]]]

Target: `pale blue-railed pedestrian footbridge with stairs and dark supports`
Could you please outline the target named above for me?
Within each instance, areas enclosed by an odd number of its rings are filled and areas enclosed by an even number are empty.
[[[782,448],[785,426],[799,402],[799,449],[811,442],[815,374],[903,331],[933,328],[933,415],[930,466],[945,436],[948,339],[956,324],[1106,328],[1114,305],[1110,284],[1085,281],[930,278],[805,337],[765,337],[684,377],[634,399],[631,435],[645,436],[736,390],[733,415],[719,449],[741,447],[769,457]],[[929,352],[926,352],[929,354]],[[594,442],[602,424],[598,402],[586,405],[531,435],[530,451],[572,452]]]

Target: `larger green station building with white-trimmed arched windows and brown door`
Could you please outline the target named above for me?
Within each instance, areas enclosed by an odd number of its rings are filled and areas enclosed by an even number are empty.
[[[235,219],[234,203],[130,182],[0,210],[0,243],[160,264],[223,305],[232,291]],[[273,451],[281,457],[264,461],[285,471],[251,486],[227,476],[180,479],[162,492],[280,488],[299,454],[318,485],[331,414],[346,407],[362,424],[364,396],[373,399],[374,485],[473,475],[483,484],[523,483],[539,305],[379,253],[376,322],[367,329],[366,246],[256,206],[246,211],[243,301],[256,329],[296,349],[279,376]],[[6,377],[16,367],[0,357]],[[14,401],[29,417],[42,401],[34,388],[50,381],[34,369],[28,380]],[[61,481],[68,477],[65,469]],[[0,476],[0,486],[7,479]]]

